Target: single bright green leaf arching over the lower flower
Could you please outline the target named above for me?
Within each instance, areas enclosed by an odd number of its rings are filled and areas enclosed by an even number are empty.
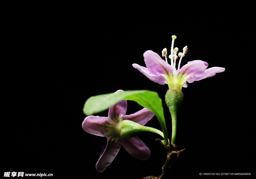
[[[92,96],[84,104],[83,112],[88,116],[99,113],[115,105],[123,99],[135,101],[141,106],[151,110],[156,115],[164,133],[165,146],[167,146],[168,136],[164,118],[164,110],[162,106],[162,99],[158,96],[156,92],[148,90],[137,90]]]

